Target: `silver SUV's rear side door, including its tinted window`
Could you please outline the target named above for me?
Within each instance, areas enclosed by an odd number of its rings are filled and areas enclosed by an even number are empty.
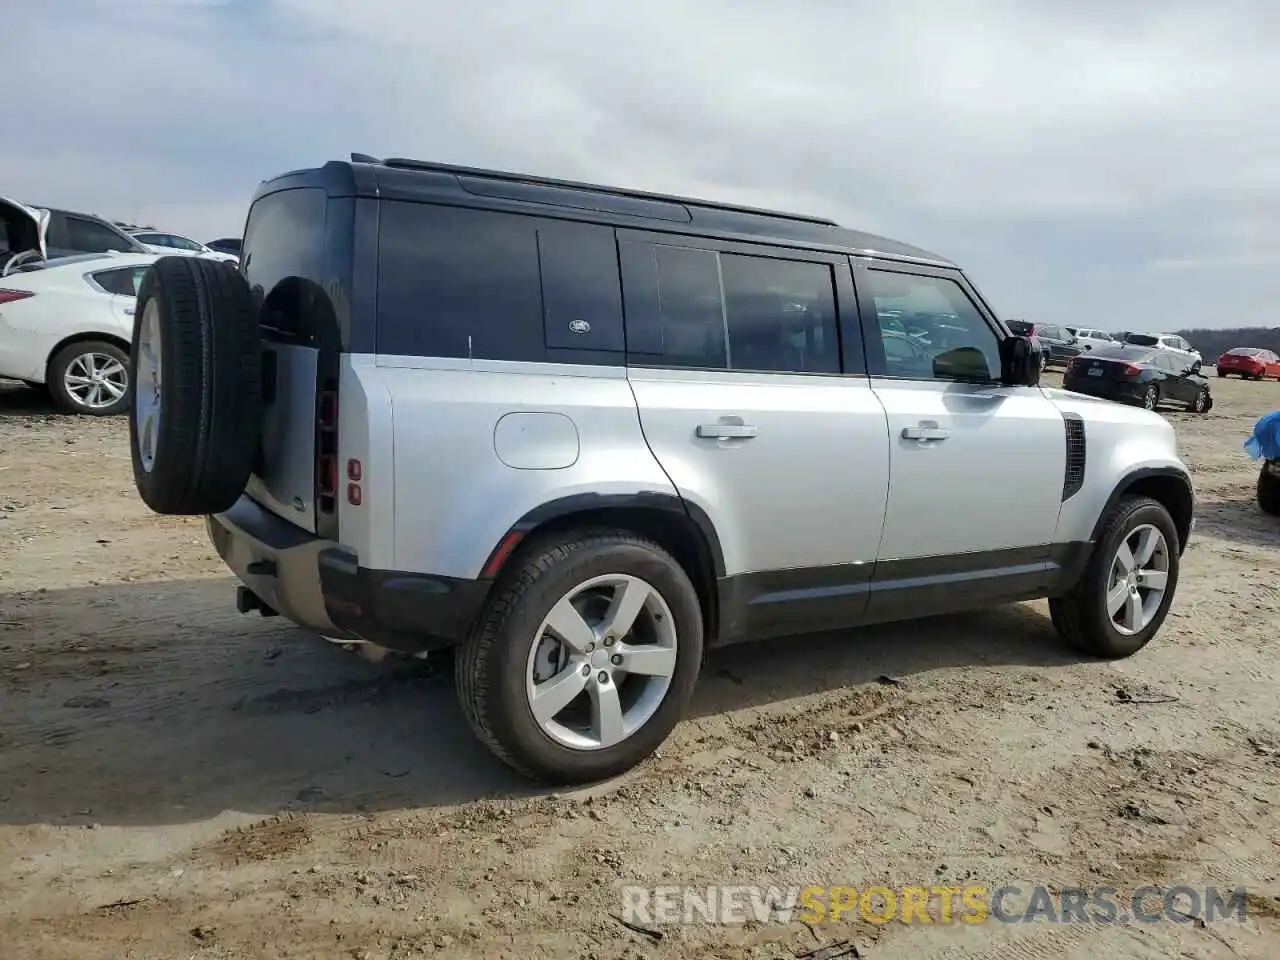
[[[790,632],[801,602],[815,630],[856,618],[884,517],[888,434],[863,366],[847,260],[626,230],[618,239],[645,439],[710,516],[726,575],[750,598],[750,622],[724,625],[726,635]]]

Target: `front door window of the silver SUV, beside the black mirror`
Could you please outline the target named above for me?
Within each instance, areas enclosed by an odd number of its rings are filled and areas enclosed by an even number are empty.
[[[864,276],[876,314],[892,312],[904,328],[879,328],[887,376],[1000,379],[1000,338],[960,284],[887,270],[867,270]]]

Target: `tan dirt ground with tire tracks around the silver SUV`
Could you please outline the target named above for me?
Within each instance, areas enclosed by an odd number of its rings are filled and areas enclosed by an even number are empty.
[[[201,524],[134,494],[124,420],[0,389],[0,956],[1280,956],[1280,521],[1242,451],[1280,383],[1213,390],[1167,413],[1198,526],[1137,657],[1074,655],[1042,603],[733,649],[659,756],[549,794],[472,740],[439,666],[237,614]],[[1190,884],[1248,909],[632,931],[625,882]]]

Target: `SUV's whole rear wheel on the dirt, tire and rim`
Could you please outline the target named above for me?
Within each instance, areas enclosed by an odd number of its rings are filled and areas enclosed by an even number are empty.
[[[457,653],[476,736],[532,780],[617,776],[671,733],[703,657],[698,593],[658,544],[593,530],[530,545]]]

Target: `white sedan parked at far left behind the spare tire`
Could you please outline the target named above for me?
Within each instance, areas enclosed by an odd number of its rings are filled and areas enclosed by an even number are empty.
[[[0,275],[0,376],[44,384],[69,413],[129,406],[129,344],[154,253],[83,253]]]

